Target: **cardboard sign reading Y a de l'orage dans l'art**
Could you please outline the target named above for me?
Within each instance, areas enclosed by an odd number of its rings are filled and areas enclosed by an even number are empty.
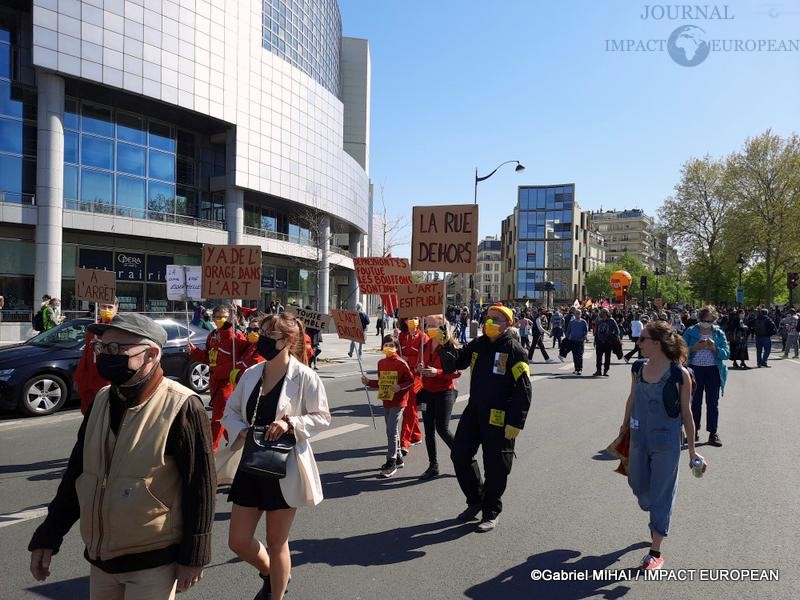
[[[261,299],[261,246],[203,246],[203,298]]]

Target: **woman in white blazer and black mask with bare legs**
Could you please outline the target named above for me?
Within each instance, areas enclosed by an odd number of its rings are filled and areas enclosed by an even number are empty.
[[[228,399],[222,425],[233,443],[247,435],[255,413],[256,424],[269,425],[269,439],[294,431],[297,444],[283,479],[236,473],[228,498],[233,502],[228,546],[258,569],[263,583],[256,600],[281,600],[289,581],[289,529],[295,511],[322,501],[322,483],[308,439],[313,431],[330,425],[331,414],[319,376],[305,364],[301,321],[285,312],[265,317],[257,344],[267,362],[244,372]],[[264,512],[269,553],[255,538]]]

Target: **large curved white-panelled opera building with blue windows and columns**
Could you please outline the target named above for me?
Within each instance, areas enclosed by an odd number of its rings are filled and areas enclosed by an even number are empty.
[[[172,310],[164,267],[203,244],[261,246],[262,305],[354,304],[371,66],[337,2],[97,5],[0,6],[4,324],[45,293],[84,310],[78,267]]]

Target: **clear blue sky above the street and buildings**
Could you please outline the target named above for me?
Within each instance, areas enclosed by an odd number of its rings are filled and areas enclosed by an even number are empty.
[[[684,24],[709,39],[798,40],[800,3],[728,2],[732,20],[700,21],[643,20],[645,5],[340,0],[344,34],[372,53],[376,200],[383,186],[390,213],[409,218],[416,204],[469,203],[475,168],[513,159],[523,173],[507,165],[479,184],[481,237],[499,235],[521,184],[574,182],[584,210],[654,215],[688,158],[800,129],[800,52],[712,52],[681,67],[666,51],[605,50]]]

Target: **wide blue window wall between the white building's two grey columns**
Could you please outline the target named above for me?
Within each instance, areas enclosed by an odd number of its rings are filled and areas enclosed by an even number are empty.
[[[135,218],[217,220],[210,209],[224,200],[210,197],[209,178],[225,174],[224,146],[201,144],[200,137],[145,115],[67,98],[65,205]]]

